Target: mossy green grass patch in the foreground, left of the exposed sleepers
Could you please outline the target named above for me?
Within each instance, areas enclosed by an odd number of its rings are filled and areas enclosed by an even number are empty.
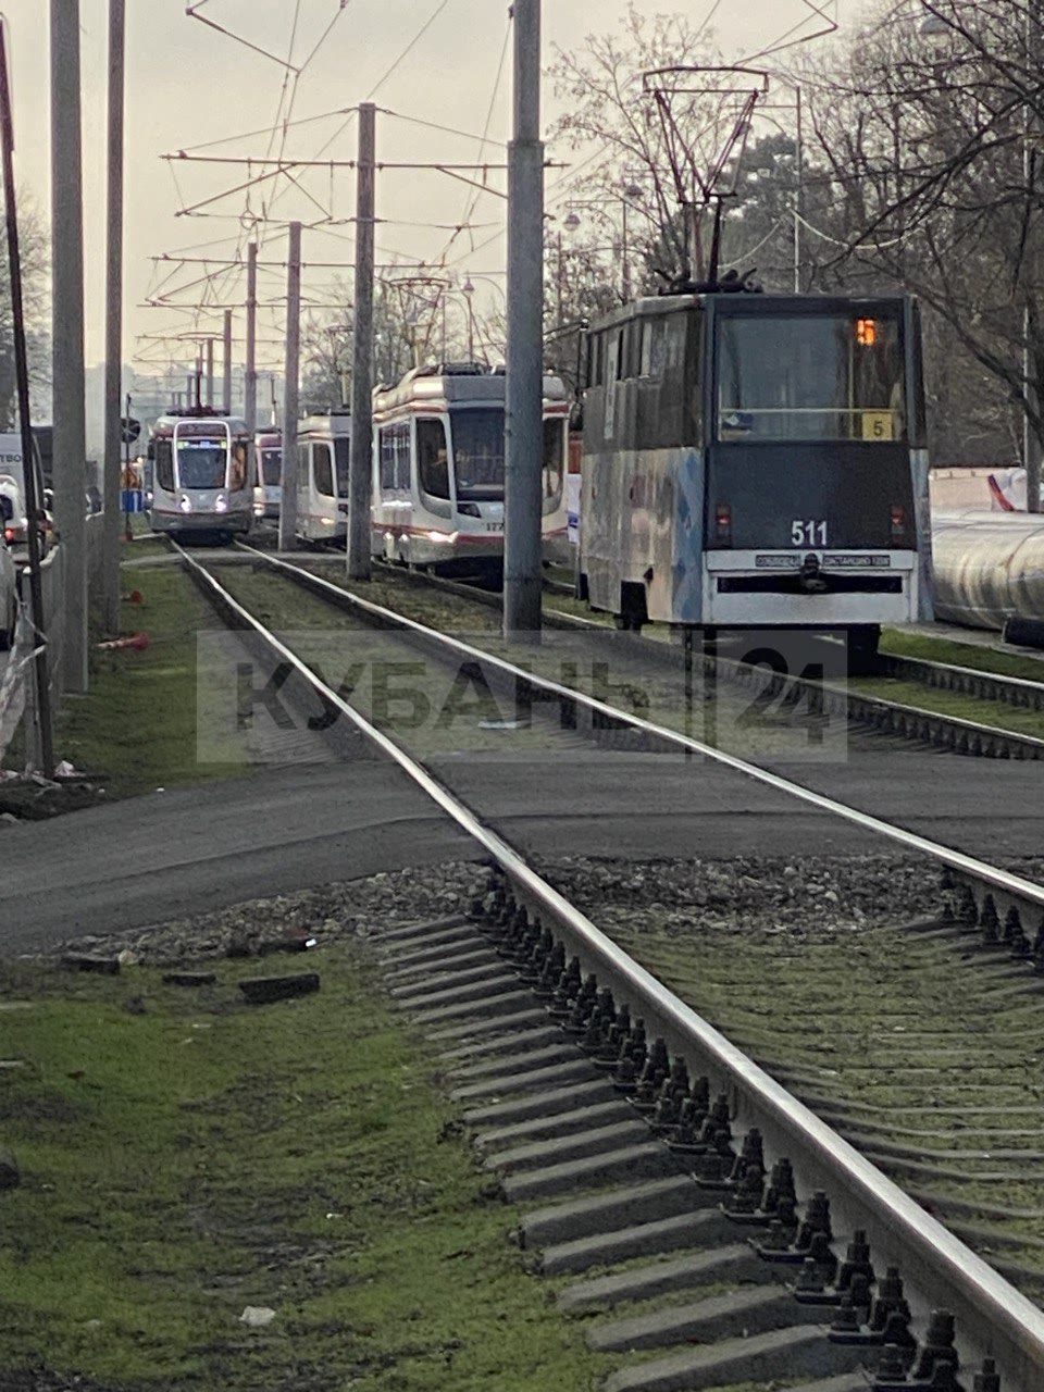
[[[507,1240],[430,1054],[337,945],[319,995],[241,1005],[0,967],[4,1374],[156,1392],[582,1392],[614,1360]],[[143,1006],[143,1009],[142,1009]],[[277,1311],[267,1328],[245,1306]]]

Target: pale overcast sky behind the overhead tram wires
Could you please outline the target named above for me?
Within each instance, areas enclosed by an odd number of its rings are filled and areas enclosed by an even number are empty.
[[[713,0],[636,3],[643,14],[678,10],[696,22],[713,6]],[[298,81],[292,107],[295,120],[351,107],[373,96],[380,107],[397,113],[395,117],[379,117],[380,153],[387,160],[464,161],[477,157],[476,141],[440,134],[412,124],[413,120],[482,134],[491,109],[490,138],[508,138],[509,64],[494,99],[494,78],[508,26],[504,0],[209,0],[202,14],[258,47],[285,57],[295,4],[299,10],[294,46],[296,64],[303,63],[335,18],[329,38]],[[46,0],[6,0],[4,8],[11,33],[17,177],[47,216],[49,6]],[[720,0],[714,8],[718,42],[734,58],[774,42],[807,14],[803,0]],[[846,8],[855,8],[855,0],[845,0],[841,8],[844,17]],[[193,248],[189,255],[228,258],[237,255],[238,245],[245,239],[239,223],[245,209],[242,193],[224,198],[205,210],[221,216],[177,216],[180,209],[241,184],[248,177],[244,167],[178,163],[171,170],[159,156],[216,141],[223,143],[206,153],[255,157],[270,153],[269,129],[280,107],[284,70],[271,58],[187,17],[185,0],[127,0],[127,10],[125,359],[132,355],[145,359],[173,349],[149,347],[138,335],[193,329],[188,313],[139,308],[149,290],[157,285],[157,269],[150,258],[185,248]],[[585,33],[611,29],[624,10],[625,0],[547,0],[546,60],[555,43],[568,47],[580,43]],[[433,14],[427,31],[404,57],[409,42]],[[103,341],[107,0],[81,0],[81,19],[88,362],[95,362],[102,356]],[[393,71],[386,78],[388,70]],[[554,104],[548,100],[547,116],[553,114]],[[253,131],[259,134],[249,135]],[[351,118],[341,116],[309,121],[290,132],[287,155],[305,159],[320,152],[326,159],[354,156],[355,127]],[[484,157],[497,160],[503,153],[493,146],[487,148]],[[554,177],[550,174],[548,180]],[[491,178],[500,182],[500,175]],[[283,184],[274,205],[266,207],[270,217],[310,220],[323,216],[305,193],[287,192],[285,181]],[[354,175],[349,171],[315,171],[308,177],[306,188],[334,219],[351,216]],[[252,193],[252,206],[259,209],[262,200],[269,198],[260,187]],[[379,260],[394,256],[438,259],[452,232],[413,224],[452,226],[470,203],[468,188],[444,175],[387,171],[379,184],[379,213],[387,219],[379,228],[377,242],[383,248]],[[450,249],[450,259],[461,274],[493,276],[503,269],[503,219],[501,199],[479,196],[470,214],[475,230],[454,238]],[[278,262],[283,255],[278,242],[281,230],[273,228],[267,235],[274,239],[262,258]],[[338,273],[315,263],[349,260],[351,227],[312,230],[305,238],[305,260],[312,262],[305,273],[305,290],[322,302],[324,287]],[[482,249],[472,253],[472,242]],[[487,245],[482,246],[483,242]],[[160,267],[160,274],[170,269]],[[184,284],[206,269],[189,267],[167,288]],[[284,281],[285,273],[280,266],[263,271],[262,299],[277,299],[284,294]],[[480,290],[496,298],[491,283],[480,281]],[[238,271],[228,273],[220,292],[230,302],[242,296]],[[192,301],[193,292],[181,298]],[[276,310],[262,330],[264,338],[277,338],[274,315]],[[316,310],[316,315],[323,317],[323,310]],[[270,361],[278,356],[274,341],[263,344],[260,351]]]

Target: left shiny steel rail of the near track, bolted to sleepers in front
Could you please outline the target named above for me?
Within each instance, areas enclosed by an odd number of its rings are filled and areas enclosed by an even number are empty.
[[[835,1212],[839,1212],[844,1222],[852,1229],[859,1226],[867,1231],[878,1263],[898,1265],[903,1278],[919,1289],[923,1302],[945,1306],[958,1317],[962,1352],[970,1346],[974,1357],[995,1357],[1005,1378],[1005,1392],[1038,1392],[1044,1385],[1044,1311],[612,942],[445,785],[329,688],[195,558],[184,551],[181,555],[189,574],[220,610],[253,631],[323,702],[351,721],[482,846],[521,896],[554,922],[568,948],[580,958],[585,970],[594,972],[600,981],[608,984],[614,997],[621,1002],[626,1001],[632,1011],[644,1018],[650,1031],[660,1034],[668,1048],[685,1058],[690,1068],[696,1072],[709,1070],[727,1082],[738,1122],[759,1126],[767,1150],[775,1155],[788,1155],[798,1165],[803,1183],[827,1189]],[[369,601],[359,603],[397,617]],[[420,628],[412,624],[409,626]],[[455,646],[466,649],[466,644]],[[487,657],[479,650],[468,651]],[[699,742],[689,743],[699,748]],[[742,760],[732,760],[731,756],[725,761],[741,771],[757,773],[753,766],[743,766]]]

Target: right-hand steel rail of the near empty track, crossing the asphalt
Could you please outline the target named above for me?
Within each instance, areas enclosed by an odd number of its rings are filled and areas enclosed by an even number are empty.
[[[338,604],[341,608],[359,610],[363,614],[369,614],[373,618],[380,619],[384,625],[402,628],[406,632],[415,633],[429,643],[437,643],[461,657],[468,658],[469,661],[489,664],[494,670],[509,677],[514,682],[546,692],[557,700],[572,702],[582,706],[592,714],[601,715],[621,725],[629,725],[633,729],[639,729],[643,734],[654,736],[657,741],[675,745],[678,749],[702,754],[727,768],[732,768],[735,773],[754,780],[756,782],[774,788],[791,798],[798,798],[802,802],[817,807],[820,812],[828,812],[832,816],[842,817],[845,821],[852,823],[863,831],[887,837],[889,841],[901,845],[905,851],[915,851],[919,855],[930,856],[954,874],[988,888],[988,891],[994,895],[995,909],[1001,917],[1004,917],[1001,910],[1006,910],[1012,906],[1031,908],[1033,910],[1044,915],[1044,885],[1034,884],[1031,880],[1023,880],[1020,876],[1012,874],[1009,870],[1001,870],[998,866],[991,866],[984,860],[977,860],[974,856],[969,856],[963,851],[954,851],[951,846],[938,845],[938,842],[928,841],[916,831],[908,831],[905,827],[896,827],[894,823],[884,821],[881,817],[874,817],[869,812],[860,812],[857,807],[849,807],[842,802],[837,802],[834,798],[828,798],[825,793],[820,793],[813,788],[805,786],[805,784],[793,782],[789,778],[784,778],[781,774],[774,774],[771,770],[763,768],[760,764],[752,764],[746,759],[741,759],[738,754],[729,754],[722,749],[715,749],[713,745],[706,745],[703,741],[695,739],[692,735],[683,735],[681,731],[668,729],[665,725],[657,725],[653,721],[643,720],[640,715],[618,710],[594,696],[587,696],[583,692],[575,690],[572,686],[562,686],[560,682],[550,681],[550,678],[537,677],[535,672],[516,667],[514,663],[509,663],[503,657],[497,657],[486,649],[473,647],[470,643],[451,638],[448,633],[440,633],[437,629],[427,628],[425,624],[419,624],[416,619],[406,618],[404,614],[397,614],[394,610],[374,604],[372,600],[365,600],[361,596],[354,594],[351,590],[345,590],[340,585],[324,580],[319,575],[312,575],[310,571],[303,571],[301,567],[283,561],[278,557],[269,555],[264,551],[256,551],[253,547],[245,546],[244,543],[239,543],[239,547],[241,550],[253,554],[260,562],[278,572],[287,574],[295,583],[319,593],[320,596]]]

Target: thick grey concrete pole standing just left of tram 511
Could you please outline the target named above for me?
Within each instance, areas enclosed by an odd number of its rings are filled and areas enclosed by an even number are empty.
[[[540,0],[515,0],[515,131],[508,148],[504,636],[540,642],[544,146]]]

